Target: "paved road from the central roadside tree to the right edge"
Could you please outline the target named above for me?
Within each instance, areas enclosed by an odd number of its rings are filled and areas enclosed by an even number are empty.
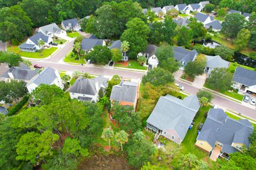
[[[184,86],[185,91],[188,92],[189,94],[196,95],[196,92],[199,90],[198,88],[191,86],[190,84],[185,83],[183,81],[175,80],[175,82]],[[220,108],[228,109],[235,113],[242,113],[242,116],[250,117],[253,120],[256,120],[256,109],[243,106],[237,103],[236,101],[232,101],[225,97],[221,97],[215,94],[213,94],[213,97],[214,98],[211,101],[211,103],[218,105]]]

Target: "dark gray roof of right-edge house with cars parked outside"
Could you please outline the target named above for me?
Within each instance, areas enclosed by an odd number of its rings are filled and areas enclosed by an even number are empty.
[[[233,75],[233,81],[242,83],[246,86],[254,86],[256,85],[256,71],[237,67]]]

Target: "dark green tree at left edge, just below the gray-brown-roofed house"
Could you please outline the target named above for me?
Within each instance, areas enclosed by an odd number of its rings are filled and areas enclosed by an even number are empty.
[[[0,81],[0,101],[12,103],[13,100],[18,100],[23,97],[26,90],[26,83],[23,81],[11,80],[11,82]]]

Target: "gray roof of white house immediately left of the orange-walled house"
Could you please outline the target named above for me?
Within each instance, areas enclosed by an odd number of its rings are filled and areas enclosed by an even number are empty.
[[[107,81],[108,79],[103,78],[102,75],[99,75],[99,77],[94,79],[79,77],[68,91],[75,92],[77,94],[95,95],[97,94],[97,87],[96,87],[97,82],[98,82],[98,89],[100,89],[101,85],[107,87]]]

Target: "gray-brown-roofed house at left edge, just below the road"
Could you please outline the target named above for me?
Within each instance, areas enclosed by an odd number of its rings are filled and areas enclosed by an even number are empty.
[[[28,82],[38,73],[39,69],[31,70],[27,65],[22,64],[19,67],[11,67],[7,70],[1,77],[5,82],[10,82],[11,80],[18,80]]]

